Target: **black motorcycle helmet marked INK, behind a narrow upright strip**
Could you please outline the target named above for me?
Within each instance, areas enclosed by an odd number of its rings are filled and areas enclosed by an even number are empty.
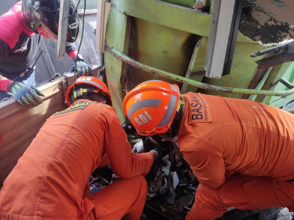
[[[35,33],[57,42],[60,0],[22,0],[22,17],[26,25]],[[70,0],[69,25],[67,28],[67,44],[78,37],[79,18],[76,5]]]

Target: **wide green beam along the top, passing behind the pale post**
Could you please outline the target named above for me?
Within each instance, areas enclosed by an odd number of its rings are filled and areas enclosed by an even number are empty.
[[[208,37],[211,14],[158,0],[119,0],[117,9],[127,15]],[[238,32],[237,41],[257,42]]]

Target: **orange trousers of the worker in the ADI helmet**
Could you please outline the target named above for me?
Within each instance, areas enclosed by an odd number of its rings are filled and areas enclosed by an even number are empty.
[[[254,210],[284,206],[293,211],[294,182],[233,174],[218,189],[199,184],[186,220],[214,220],[227,207]]]

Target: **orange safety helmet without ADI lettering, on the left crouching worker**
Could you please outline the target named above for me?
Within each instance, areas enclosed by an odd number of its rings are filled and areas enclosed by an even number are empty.
[[[90,89],[90,88],[82,88],[81,85],[90,85],[92,87],[95,87],[96,89]],[[72,100],[72,89],[74,87],[74,84],[71,84],[69,88],[66,90],[66,103],[68,106],[71,106],[71,100]],[[108,97],[109,100],[107,100],[106,104],[112,106],[111,101],[111,94],[105,85],[104,82],[102,82],[100,79],[97,79],[96,77],[91,76],[81,76],[78,79],[76,79],[75,82],[75,96],[82,96],[83,94],[91,93],[91,92],[102,92],[106,97]],[[78,90],[78,91],[77,91]],[[76,98],[75,97],[75,98]]]

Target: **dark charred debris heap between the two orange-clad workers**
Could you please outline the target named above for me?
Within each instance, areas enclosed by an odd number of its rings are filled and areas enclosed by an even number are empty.
[[[154,163],[149,174],[146,175],[148,183],[146,206],[153,210],[158,207],[165,209],[165,212],[176,214],[175,219],[184,219],[193,205],[199,182],[188,163],[183,160],[178,147],[173,143],[169,144],[171,150],[168,155]],[[160,215],[167,216],[163,213]]]

